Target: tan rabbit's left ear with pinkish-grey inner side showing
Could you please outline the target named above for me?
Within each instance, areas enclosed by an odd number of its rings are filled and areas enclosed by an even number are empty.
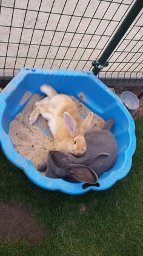
[[[64,121],[70,136],[75,136],[75,132],[77,130],[76,121],[67,112],[64,112]]]

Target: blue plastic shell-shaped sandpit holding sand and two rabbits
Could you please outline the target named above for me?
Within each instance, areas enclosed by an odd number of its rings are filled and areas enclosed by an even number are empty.
[[[50,84],[59,93],[75,96],[91,111],[105,121],[115,119],[112,129],[118,143],[118,160],[115,165],[99,177],[99,187],[83,188],[84,183],[69,183],[62,179],[50,179],[43,176],[32,162],[15,150],[8,136],[10,122],[22,111],[34,93],[41,94],[39,87]],[[20,104],[22,97],[30,91],[29,98]],[[85,101],[79,94],[84,93]],[[0,143],[5,156],[13,165],[21,168],[28,179],[46,190],[59,190],[67,194],[83,194],[90,190],[102,191],[112,187],[118,180],[127,176],[131,168],[132,156],[136,149],[135,123],[130,113],[116,96],[91,71],[70,71],[62,69],[21,68],[0,94]]]

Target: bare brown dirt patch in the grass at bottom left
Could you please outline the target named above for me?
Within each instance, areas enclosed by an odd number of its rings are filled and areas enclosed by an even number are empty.
[[[19,202],[0,202],[0,240],[28,240],[36,243],[45,237],[45,230],[39,226],[28,207]]]

